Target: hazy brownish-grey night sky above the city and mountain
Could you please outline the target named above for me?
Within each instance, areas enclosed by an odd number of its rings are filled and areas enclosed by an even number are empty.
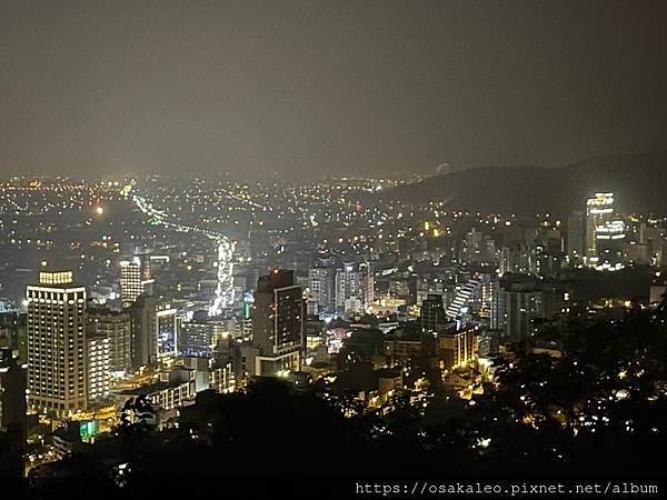
[[[664,150],[666,1],[0,2],[8,173],[430,171]]]

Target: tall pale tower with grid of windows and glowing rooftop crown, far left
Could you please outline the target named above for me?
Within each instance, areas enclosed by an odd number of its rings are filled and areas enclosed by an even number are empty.
[[[27,300],[31,408],[60,416],[84,410],[86,288],[71,271],[40,272]]]

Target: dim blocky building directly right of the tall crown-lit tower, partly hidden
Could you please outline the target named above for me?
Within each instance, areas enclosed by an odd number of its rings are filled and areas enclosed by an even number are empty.
[[[109,339],[111,372],[128,371],[132,366],[130,314],[107,309],[89,310],[88,323],[94,334]]]

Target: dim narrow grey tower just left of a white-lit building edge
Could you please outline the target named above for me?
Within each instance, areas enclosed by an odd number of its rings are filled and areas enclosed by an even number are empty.
[[[129,309],[132,368],[158,362],[158,300],[139,296]]]

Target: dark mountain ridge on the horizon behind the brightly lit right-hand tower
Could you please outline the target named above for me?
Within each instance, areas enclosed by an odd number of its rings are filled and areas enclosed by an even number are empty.
[[[581,209],[596,191],[613,191],[624,212],[667,213],[667,152],[596,157],[559,168],[459,170],[400,186],[367,201],[432,200],[481,212],[569,213]]]

